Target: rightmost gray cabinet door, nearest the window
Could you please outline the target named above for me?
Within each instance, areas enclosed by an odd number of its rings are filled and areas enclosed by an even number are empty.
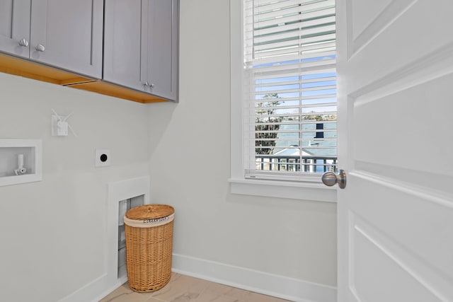
[[[178,100],[178,0],[148,0],[142,13],[147,81],[154,95]],[[145,18],[147,17],[147,18]]]

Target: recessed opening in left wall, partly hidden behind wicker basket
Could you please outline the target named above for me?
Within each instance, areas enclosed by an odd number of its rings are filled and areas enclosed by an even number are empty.
[[[126,269],[126,238],[125,221],[126,211],[144,204],[144,195],[120,200],[118,204],[118,279],[127,277]]]

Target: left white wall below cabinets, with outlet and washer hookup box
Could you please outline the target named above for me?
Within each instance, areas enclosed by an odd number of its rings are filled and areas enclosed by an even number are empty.
[[[78,137],[52,137],[51,108]],[[0,139],[42,139],[41,182],[0,187],[0,301],[59,301],[105,273],[107,183],[148,174],[144,105],[0,73]],[[94,168],[95,149],[112,166]]]

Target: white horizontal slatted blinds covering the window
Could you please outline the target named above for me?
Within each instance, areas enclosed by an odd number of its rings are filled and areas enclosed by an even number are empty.
[[[244,0],[246,178],[336,171],[334,0]]]

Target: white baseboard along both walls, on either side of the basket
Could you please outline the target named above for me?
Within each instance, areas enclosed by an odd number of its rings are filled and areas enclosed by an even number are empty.
[[[333,286],[179,254],[173,254],[172,271],[295,302],[336,302],[337,297]],[[59,302],[99,301],[127,281],[124,277],[112,284],[107,279],[106,274],[98,277]]]

